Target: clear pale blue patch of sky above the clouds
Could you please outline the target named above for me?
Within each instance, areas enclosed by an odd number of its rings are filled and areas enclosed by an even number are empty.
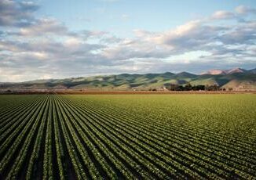
[[[133,29],[165,31],[182,23],[218,10],[232,11],[239,5],[255,6],[254,0],[64,0],[39,1],[40,16],[53,16],[71,30],[110,31],[116,35],[131,34]]]

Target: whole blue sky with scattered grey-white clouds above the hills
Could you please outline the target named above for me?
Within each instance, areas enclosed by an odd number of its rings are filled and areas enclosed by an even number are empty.
[[[256,67],[254,0],[0,0],[0,81]]]

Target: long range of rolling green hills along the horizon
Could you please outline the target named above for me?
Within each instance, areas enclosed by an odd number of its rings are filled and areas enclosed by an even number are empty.
[[[118,74],[93,77],[71,77],[0,83],[0,89],[76,89],[76,90],[163,90],[170,85],[218,85],[232,90],[256,90],[256,68],[244,70],[208,70],[203,74],[188,72],[163,74]]]

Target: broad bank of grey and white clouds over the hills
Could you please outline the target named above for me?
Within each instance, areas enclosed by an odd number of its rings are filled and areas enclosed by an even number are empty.
[[[132,38],[71,31],[37,17],[34,2],[0,2],[0,81],[95,74],[183,71],[256,64],[256,9],[219,10],[168,31],[137,29]],[[225,23],[223,23],[225,22]]]

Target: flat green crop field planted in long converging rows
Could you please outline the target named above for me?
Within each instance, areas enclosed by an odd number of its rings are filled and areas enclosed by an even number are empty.
[[[256,179],[256,95],[0,95],[1,179]]]

